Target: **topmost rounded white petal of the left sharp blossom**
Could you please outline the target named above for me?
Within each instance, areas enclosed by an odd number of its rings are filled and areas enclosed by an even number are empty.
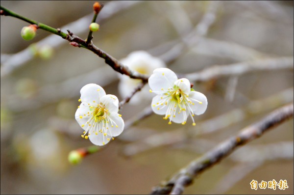
[[[98,84],[86,84],[81,88],[80,93],[81,101],[90,105],[97,105],[95,103],[99,103],[100,98],[106,95],[104,89]]]

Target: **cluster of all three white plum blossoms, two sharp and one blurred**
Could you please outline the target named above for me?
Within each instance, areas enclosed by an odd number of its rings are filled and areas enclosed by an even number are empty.
[[[148,79],[149,92],[155,93],[151,101],[152,110],[169,124],[186,124],[191,116],[193,125],[196,125],[193,116],[202,114],[207,109],[207,98],[204,94],[195,91],[188,79],[178,79],[176,74],[165,68],[164,62],[150,56],[146,52],[134,52],[122,60],[134,71],[150,75]],[[153,73],[152,73],[153,71]],[[152,73],[152,74],[151,74]],[[120,91],[126,96],[138,81],[121,77]],[[144,90],[143,90],[144,91]],[[105,145],[114,137],[123,132],[124,121],[119,111],[119,100],[115,95],[106,95],[98,84],[86,84],[80,90],[81,104],[75,112],[75,119],[84,130],[82,138],[90,139],[95,145]],[[142,92],[144,94],[145,92]],[[144,96],[140,93],[133,96],[133,103],[140,102]],[[136,96],[137,95],[137,96]]]

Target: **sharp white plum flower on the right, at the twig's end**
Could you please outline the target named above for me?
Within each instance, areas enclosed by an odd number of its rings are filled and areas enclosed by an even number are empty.
[[[157,68],[148,79],[150,92],[157,95],[153,97],[152,110],[164,119],[170,119],[175,123],[186,124],[190,115],[194,121],[194,114],[200,115],[206,111],[207,98],[204,94],[191,88],[188,79],[177,79],[177,76],[168,68]]]

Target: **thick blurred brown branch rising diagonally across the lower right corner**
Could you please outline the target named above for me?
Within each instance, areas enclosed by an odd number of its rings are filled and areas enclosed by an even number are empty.
[[[191,162],[187,167],[182,168],[169,181],[154,187],[151,194],[182,194],[184,188],[190,185],[199,173],[220,162],[238,146],[259,138],[272,127],[291,117],[293,117],[293,103],[271,112],[257,123],[241,130],[237,136],[226,139],[200,158]]]

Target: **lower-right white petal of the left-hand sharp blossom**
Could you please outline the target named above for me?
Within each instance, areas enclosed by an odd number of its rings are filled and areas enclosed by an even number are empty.
[[[123,132],[124,128],[123,118],[115,112],[111,112],[109,118],[112,120],[112,123],[110,121],[108,123],[109,126],[107,130],[107,135],[113,137],[119,136]]]

